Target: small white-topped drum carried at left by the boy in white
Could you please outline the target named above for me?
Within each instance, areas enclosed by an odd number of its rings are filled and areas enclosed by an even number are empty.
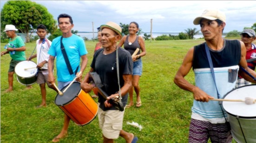
[[[36,63],[30,60],[24,60],[15,66],[17,80],[23,85],[32,85],[36,83],[38,69]]]

